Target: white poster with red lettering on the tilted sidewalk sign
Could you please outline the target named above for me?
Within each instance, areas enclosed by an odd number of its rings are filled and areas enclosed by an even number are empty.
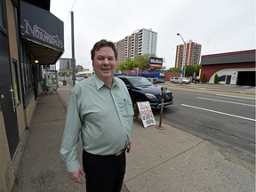
[[[144,128],[156,124],[155,117],[152,113],[149,102],[137,102],[137,105],[140,111],[140,118],[142,120]]]

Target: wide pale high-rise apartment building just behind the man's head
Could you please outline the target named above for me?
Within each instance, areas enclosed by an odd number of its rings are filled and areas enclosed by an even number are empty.
[[[157,33],[152,29],[141,28],[132,33],[131,36],[126,36],[124,39],[116,42],[118,52],[118,62],[123,62],[126,59],[134,59],[142,54],[156,55]]]

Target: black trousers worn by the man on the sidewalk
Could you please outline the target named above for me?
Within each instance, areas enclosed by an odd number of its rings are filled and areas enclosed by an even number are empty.
[[[83,151],[86,192],[120,192],[126,166],[125,151],[120,156],[98,156]]]

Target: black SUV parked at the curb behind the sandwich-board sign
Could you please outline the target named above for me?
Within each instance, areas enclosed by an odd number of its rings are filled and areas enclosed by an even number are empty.
[[[149,101],[151,108],[161,108],[161,87],[152,84],[143,76],[117,76],[124,81],[132,98],[133,106],[137,101]],[[164,92],[164,107],[172,105],[173,95],[170,90]]]

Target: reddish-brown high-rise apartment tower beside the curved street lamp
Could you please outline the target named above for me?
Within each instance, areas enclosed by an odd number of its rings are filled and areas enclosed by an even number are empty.
[[[184,44],[177,45],[175,68],[179,68],[182,64],[183,49]],[[201,59],[201,49],[201,44],[189,41],[189,43],[186,44],[184,66],[199,64]]]

